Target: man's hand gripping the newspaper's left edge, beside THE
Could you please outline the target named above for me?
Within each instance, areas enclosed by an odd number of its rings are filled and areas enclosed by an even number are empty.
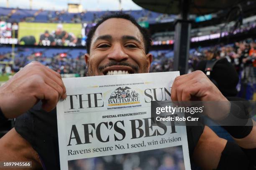
[[[60,99],[67,97],[61,75],[33,61],[0,87],[0,108],[7,118],[14,118],[29,110],[39,100],[42,108],[53,110]]]

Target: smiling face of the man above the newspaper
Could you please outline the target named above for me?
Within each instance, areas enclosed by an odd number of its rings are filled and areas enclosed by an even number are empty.
[[[104,21],[92,37],[90,54],[85,55],[88,75],[148,72],[152,55],[146,55],[143,42],[140,30],[131,21]]]

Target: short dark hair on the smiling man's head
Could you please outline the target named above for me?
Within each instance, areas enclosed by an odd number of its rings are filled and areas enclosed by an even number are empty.
[[[117,13],[112,14],[112,15],[107,15],[107,16],[103,17],[94,27],[92,27],[92,29],[89,31],[89,33],[87,35],[87,40],[86,40],[86,50],[87,50],[88,54],[90,54],[90,47],[91,47],[92,37],[93,37],[96,29],[105,20],[108,20],[110,18],[123,18],[125,20],[131,21],[131,23],[133,23],[140,30],[140,32],[143,36],[145,52],[146,52],[146,54],[148,54],[149,48],[151,46],[151,39],[150,39],[148,30],[146,30],[145,28],[142,28],[131,15],[125,14],[123,12],[117,12]]]

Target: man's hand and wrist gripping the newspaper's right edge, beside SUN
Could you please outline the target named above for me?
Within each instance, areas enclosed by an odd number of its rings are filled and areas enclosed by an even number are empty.
[[[230,102],[205,73],[199,70],[176,77],[172,85],[171,98],[172,101],[178,102],[203,101],[204,114],[213,120],[225,118],[230,111]]]

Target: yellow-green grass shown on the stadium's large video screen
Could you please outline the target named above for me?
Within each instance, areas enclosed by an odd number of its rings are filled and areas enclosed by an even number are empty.
[[[50,33],[56,30],[58,23],[19,23],[18,39],[27,35],[33,35],[39,42],[40,35],[48,30]],[[63,30],[73,33],[76,37],[81,34],[81,24],[62,24]]]

